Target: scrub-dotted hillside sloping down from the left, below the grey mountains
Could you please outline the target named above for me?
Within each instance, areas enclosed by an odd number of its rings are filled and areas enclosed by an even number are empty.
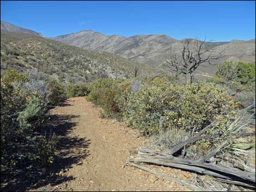
[[[62,44],[40,36],[1,30],[1,73],[5,69],[39,70],[64,82],[76,83],[99,78],[132,75],[135,64],[107,52]]]

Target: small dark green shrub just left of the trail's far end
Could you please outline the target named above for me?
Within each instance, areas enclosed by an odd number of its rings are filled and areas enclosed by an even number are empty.
[[[56,106],[65,100],[66,92],[62,83],[58,82],[57,80],[52,80],[49,83],[49,88],[52,92],[48,99],[51,105]]]

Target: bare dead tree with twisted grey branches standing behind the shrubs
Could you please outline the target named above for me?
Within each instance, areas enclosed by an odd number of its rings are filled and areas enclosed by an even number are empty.
[[[208,50],[205,47],[205,40],[192,40],[185,39],[183,41],[183,48],[181,55],[175,52],[172,47],[170,49],[169,59],[166,59],[163,63],[164,66],[172,72],[175,72],[176,78],[180,73],[186,75],[187,83],[192,82],[192,73],[198,68],[198,66],[212,61],[218,60],[223,57],[223,52],[215,52],[215,49]]]

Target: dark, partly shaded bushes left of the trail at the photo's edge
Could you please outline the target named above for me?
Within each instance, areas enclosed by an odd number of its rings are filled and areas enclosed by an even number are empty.
[[[1,76],[1,173],[15,174],[24,163],[46,165],[53,160],[53,143],[34,134],[45,119],[47,103],[34,91],[41,89],[36,88],[39,84],[35,89],[24,86],[33,82],[14,70]]]

